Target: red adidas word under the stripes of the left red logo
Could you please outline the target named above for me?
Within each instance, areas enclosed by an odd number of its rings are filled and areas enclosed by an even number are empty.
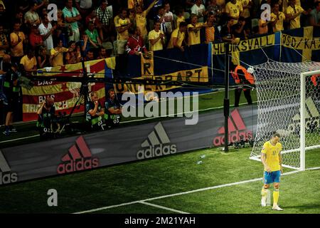
[[[63,164],[58,165],[57,172],[58,174],[75,172],[80,170],[91,170],[92,168],[99,166],[99,160],[97,158],[90,158],[81,160],[70,160]]]

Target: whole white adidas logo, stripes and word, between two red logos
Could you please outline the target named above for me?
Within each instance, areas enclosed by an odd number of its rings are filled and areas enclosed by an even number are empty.
[[[144,140],[141,146],[144,150],[137,152],[139,160],[176,153],[176,145],[170,144],[170,139],[161,122],[154,127],[154,131],[148,135],[148,139]]]

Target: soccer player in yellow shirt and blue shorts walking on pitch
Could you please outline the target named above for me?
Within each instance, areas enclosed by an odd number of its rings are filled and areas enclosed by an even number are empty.
[[[274,133],[271,140],[265,142],[261,150],[261,161],[265,167],[264,172],[264,185],[261,190],[261,206],[266,206],[267,195],[269,193],[270,184],[273,183],[273,207],[272,209],[282,211],[283,209],[278,206],[279,200],[279,182],[282,171],[282,157],[281,150],[282,144],[279,142],[279,133]]]

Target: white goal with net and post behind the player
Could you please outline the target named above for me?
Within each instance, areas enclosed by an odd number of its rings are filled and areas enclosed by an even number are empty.
[[[277,132],[283,166],[304,170],[305,151],[320,148],[320,63],[270,61],[254,70],[258,113],[250,158],[260,161],[262,145]]]

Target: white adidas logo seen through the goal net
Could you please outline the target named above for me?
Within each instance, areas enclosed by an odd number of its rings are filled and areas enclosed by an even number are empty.
[[[320,128],[320,113],[311,97],[306,99],[304,112],[306,113],[306,129],[309,129],[310,125],[314,125],[314,128]],[[288,131],[294,133],[297,128],[300,128],[300,114],[294,115],[292,120],[294,123],[289,124]]]

